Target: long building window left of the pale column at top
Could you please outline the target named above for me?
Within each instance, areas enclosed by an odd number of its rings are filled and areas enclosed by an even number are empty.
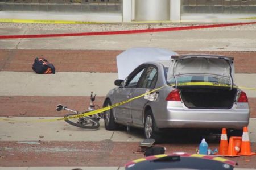
[[[122,13],[122,0],[0,0],[0,11]]]

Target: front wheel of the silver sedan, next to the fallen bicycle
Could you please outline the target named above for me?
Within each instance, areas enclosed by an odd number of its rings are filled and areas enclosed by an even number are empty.
[[[110,99],[106,99],[104,107],[111,106]],[[113,110],[104,111],[104,123],[106,130],[117,130],[118,124],[114,121]]]

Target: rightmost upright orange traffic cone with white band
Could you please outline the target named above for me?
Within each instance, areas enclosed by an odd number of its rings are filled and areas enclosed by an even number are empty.
[[[255,155],[256,153],[251,152],[251,143],[249,140],[248,128],[243,127],[243,135],[242,135],[242,144],[241,144],[241,152],[239,155]]]

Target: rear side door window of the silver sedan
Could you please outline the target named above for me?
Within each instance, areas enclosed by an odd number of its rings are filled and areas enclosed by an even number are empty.
[[[150,65],[139,81],[138,88],[155,88],[157,78],[158,70],[153,65]]]

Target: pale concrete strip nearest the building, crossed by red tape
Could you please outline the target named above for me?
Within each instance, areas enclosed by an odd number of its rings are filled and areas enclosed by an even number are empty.
[[[21,25],[21,26],[20,26]],[[16,26],[16,27],[15,27]],[[150,25],[152,27],[179,27],[180,25]],[[104,25],[74,26],[68,25],[49,29],[47,24],[34,24],[27,28],[26,24],[1,24],[0,35],[29,34],[61,34],[72,32],[113,31],[119,26]],[[52,26],[54,27],[54,26]],[[74,27],[74,28],[73,28]],[[80,27],[84,27],[81,29]],[[125,29],[124,25],[124,29]],[[130,30],[139,29],[138,25],[127,25]],[[73,28],[73,29],[72,29]],[[123,28],[123,27],[122,27]],[[90,30],[89,30],[90,29]],[[207,28],[201,30],[152,32],[145,34],[102,35],[102,36],[70,36],[64,38],[34,38],[34,39],[0,39],[1,49],[98,49],[124,50],[131,47],[160,47],[189,51],[255,51],[256,26],[232,26]],[[43,42],[43,43],[42,43]]]

